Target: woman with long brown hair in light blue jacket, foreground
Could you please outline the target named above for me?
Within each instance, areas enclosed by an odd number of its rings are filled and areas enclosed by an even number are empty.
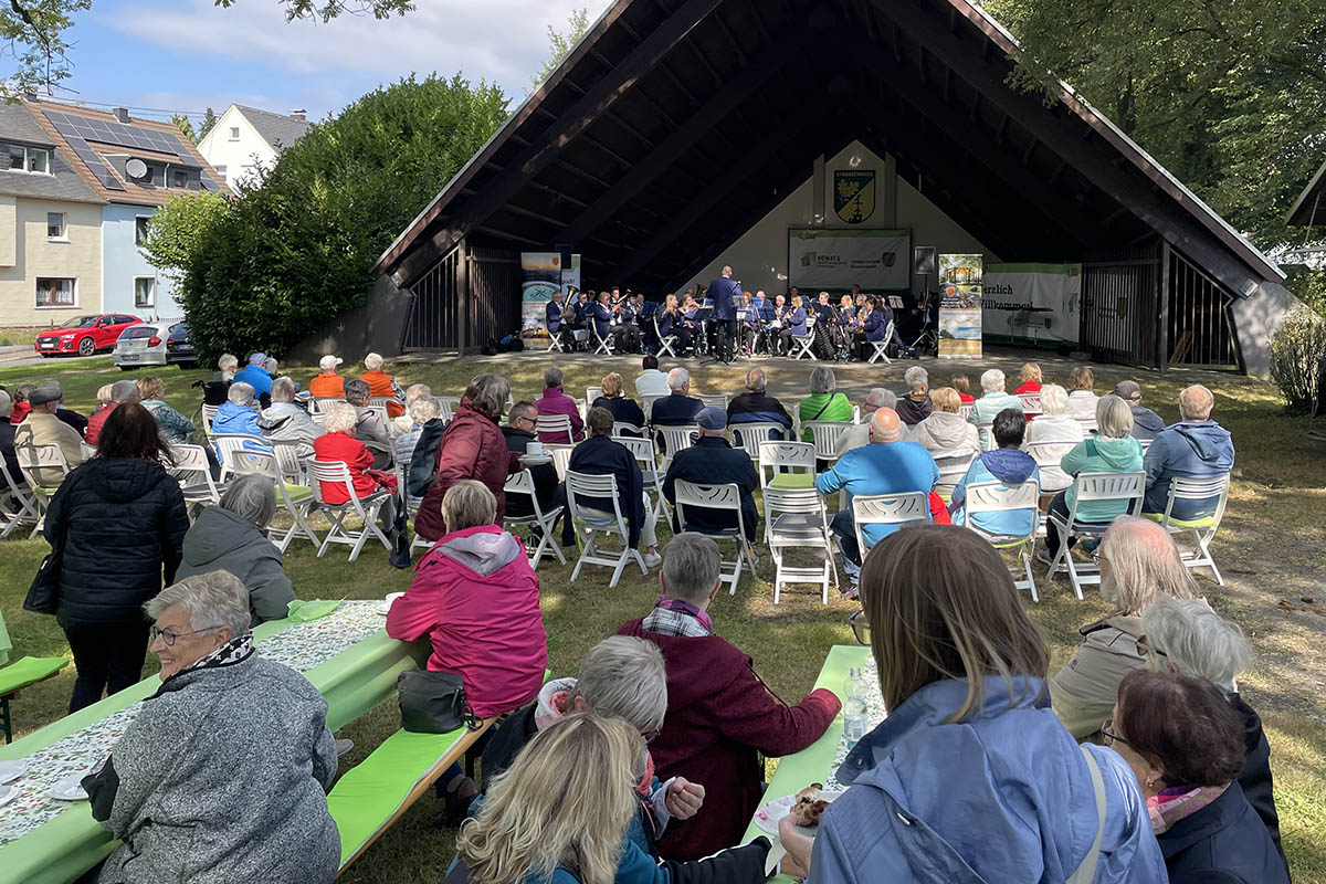
[[[908,527],[861,578],[888,717],[838,767],[847,793],[813,855],[790,819],[780,827],[790,865],[815,884],[1163,884],[1128,766],[1078,747],[1045,702],[1050,651],[998,551],[965,529]]]

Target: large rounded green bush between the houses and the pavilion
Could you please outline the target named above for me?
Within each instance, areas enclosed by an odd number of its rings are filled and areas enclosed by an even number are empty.
[[[359,306],[382,252],[505,117],[499,87],[457,74],[378,89],[310,127],[186,257],[159,253],[183,269],[176,297],[204,358],[284,354]]]

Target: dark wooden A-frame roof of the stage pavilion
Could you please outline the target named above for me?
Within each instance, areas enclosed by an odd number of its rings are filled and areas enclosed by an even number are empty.
[[[377,273],[566,243],[586,278],[662,293],[855,139],[1005,260],[1162,236],[1240,296],[1282,278],[1069,86],[1012,89],[1018,52],[969,0],[617,0]]]

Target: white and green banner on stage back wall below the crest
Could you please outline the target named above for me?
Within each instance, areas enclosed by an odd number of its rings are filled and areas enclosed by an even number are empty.
[[[911,231],[788,228],[789,285],[814,292],[911,289]]]

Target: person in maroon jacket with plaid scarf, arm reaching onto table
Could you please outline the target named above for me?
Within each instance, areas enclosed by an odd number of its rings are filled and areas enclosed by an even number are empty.
[[[671,860],[737,844],[764,799],[761,757],[808,747],[842,706],[822,688],[788,706],[756,675],[748,653],[713,634],[707,608],[721,586],[720,567],[713,539],[678,534],[667,545],[654,610],[618,630],[648,639],[667,660],[667,717],[650,742],[659,777],[704,786],[704,806],[659,844]]]

